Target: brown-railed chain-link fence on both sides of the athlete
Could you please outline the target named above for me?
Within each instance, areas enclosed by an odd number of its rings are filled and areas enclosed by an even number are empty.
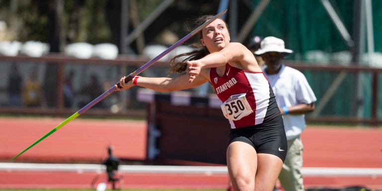
[[[74,59],[59,55],[40,58],[0,56],[0,110],[5,114],[73,114],[149,61],[143,57],[116,60]],[[308,121],[365,122],[382,118],[382,69],[356,65],[287,62],[303,72],[316,97]],[[141,76],[166,77],[169,63],[160,61]],[[144,117],[146,104],[137,88],[114,92],[84,114]],[[212,94],[208,84],[185,90],[196,96]]]

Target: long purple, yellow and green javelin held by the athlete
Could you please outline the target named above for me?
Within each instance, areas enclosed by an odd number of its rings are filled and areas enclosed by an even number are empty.
[[[218,14],[216,14],[214,17],[212,17],[211,19],[207,20],[205,23],[203,23],[202,25],[200,25],[199,27],[197,27],[195,30],[193,30],[190,34],[186,35],[185,37],[183,37],[181,40],[179,40],[178,42],[176,42],[175,44],[173,44],[172,46],[170,46],[168,49],[166,49],[165,51],[163,51],[161,54],[159,54],[157,57],[153,58],[152,60],[150,60],[149,62],[147,62],[146,64],[144,64],[143,66],[141,66],[140,68],[138,68],[136,71],[134,71],[133,73],[129,74],[126,78],[125,78],[125,82],[128,82],[130,80],[132,80],[135,76],[137,76],[138,74],[140,74],[141,72],[143,72],[144,70],[146,70],[149,66],[153,65],[155,62],[157,62],[159,59],[161,59],[162,57],[164,57],[166,54],[168,54],[169,52],[171,52],[172,50],[174,50],[176,47],[178,47],[179,45],[183,44],[186,40],[190,39],[193,35],[195,35],[196,33],[198,33],[202,28],[204,28],[206,25],[210,24],[212,21],[214,21],[215,19],[219,18],[221,15],[223,15],[225,12],[227,11],[226,10],[223,10],[221,12],[219,12]],[[119,83],[117,83],[117,86],[119,86]],[[83,107],[82,109],[78,110],[76,113],[74,113],[72,116],[70,116],[69,118],[67,118],[65,121],[63,121],[62,123],[60,123],[59,125],[57,125],[57,127],[55,127],[54,129],[52,129],[51,131],[49,131],[47,134],[45,134],[43,137],[41,137],[40,139],[38,139],[36,142],[34,142],[33,144],[31,144],[29,147],[27,147],[26,149],[24,149],[21,153],[19,153],[18,155],[16,155],[15,157],[13,157],[12,159],[10,159],[9,161],[12,161],[13,159],[17,158],[18,156],[20,156],[21,154],[23,154],[25,151],[29,150],[30,148],[32,148],[34,145],[36,145],[37,143],[39,143],[40,141],[44,140],[46,137],[48,137],[49,135],[51,135],[52,133],[54,133],[55,131],[57,131],[58,129],[60,129],[61,127],[63,127],[64,125],[66,125],[67,123],[69,123],[71,120],[75,119],[76,117],[80,116],[81,114],[83,114],[85,111],[87,111],[89,108],[91,108],[93,105],[95,105],[95,103],[98,103],[100,100],[102,100],[103,98],[105,98],[107,95],[110,95],[111,93],[113,93],[115,91],[115,88],[114,86],[111,87],[109,90],[107,90],[106,92],[104,92],[102,95],[99,95],[97,98],[95,98],[93,101],[91,101],[90,103],[88,103],[87,105],[85,105],[85,107]]]

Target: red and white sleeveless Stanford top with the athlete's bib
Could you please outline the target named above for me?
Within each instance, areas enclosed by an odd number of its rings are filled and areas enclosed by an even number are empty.
[[[246,71],[226,64],[223,76],[216,73],[216,68],[211,68],[209,75],[232,129],[261,124],[280,113],[263,72]]]

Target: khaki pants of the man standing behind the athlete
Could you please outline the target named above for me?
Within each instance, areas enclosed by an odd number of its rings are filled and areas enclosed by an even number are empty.
[[[280,183],[286,191],[304,191],[301,174],[302,150],[300,137],[288,141],[288,153],[279,175]]]

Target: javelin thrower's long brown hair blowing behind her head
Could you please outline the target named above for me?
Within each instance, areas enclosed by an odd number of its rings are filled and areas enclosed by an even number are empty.
[[[213,16],[214,15],[203,15],[203,16],[197,17],[195,19],[194,25],[196,27],[200,26],[203,23],[205,23],[207,20],[211,19]],[[221,18],[217,18],[217,19],[221,19]],[[223,20],[223,19],[221,19],[221,20]],[[228,29],[227,23],[225,21],[224,21],[224,23]],[[202,35],[201,30],[199,31],[198,34],[199,34],[199,38],[202,39],[203,35]],[[192,50],[190,52],[187,52],[187,53],[179,54],[179,55],[175,56],[173,59],[171,59],[169,73],[182,73],[182,72],[186,71],[186,68],[187,68],[186,62],[187,61],[198,60],[198,59],[201,59],[204,56],[209,54],[208,49],[205,46],[203,46],[200,41],[192,43],[190,46],[193,48],[196,48],[196,49]]]

